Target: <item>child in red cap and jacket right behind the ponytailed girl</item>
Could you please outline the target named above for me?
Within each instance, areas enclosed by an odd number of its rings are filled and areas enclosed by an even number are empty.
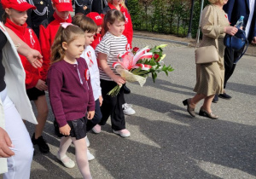
[[[43,72],[41,75],[45,80],[49,69],[50,47],[54,42],[55,34],[62,22],[71,23],[69,11],[73,11],[71,0],[52,0],[55,13],[50,19],[46,19],[39,26],[39,40],[43,55]]]

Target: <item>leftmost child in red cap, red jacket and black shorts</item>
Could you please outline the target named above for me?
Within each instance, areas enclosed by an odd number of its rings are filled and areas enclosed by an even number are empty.
[[[40,51],[40,44],[36,34],[26,25],[26,11],[36,7],[26,3],[26,1],[2,0],[1,2],[5,9],[3,14],[4,25],[15,32],[29,47]],[[38,110],[38,124],[36,125],[35,133],[32,135],[32,143],[34,145],[38,144],[41,153],[49,153],[49,146],[42,136],[48,115],[48,106],[44,93],[44,90],[47,90],[47,85],[40,76],[40,69],[34,68],[23,55],[20,55],[20,60],[26,72],[26,94],[30,101],[34,101]]]

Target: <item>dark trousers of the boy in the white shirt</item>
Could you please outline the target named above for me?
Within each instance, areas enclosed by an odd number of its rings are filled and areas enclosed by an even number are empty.
[[[86,131],[89,132],[96,124],[101,122],[102,119],[102,112],[100,107],[100,101],[97,99],[95,101],[95,114],[94,117],[91,120],[87,120],[86,124]]]

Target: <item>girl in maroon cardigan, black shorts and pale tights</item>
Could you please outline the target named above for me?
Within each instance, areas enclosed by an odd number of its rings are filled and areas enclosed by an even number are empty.
[[[84,178],[91,178],[86,154],[86,118],[94,116],[94,98],[90,85],[90,72],[83,58],[84,31],[78,26],[63,23],[51,48],[51,62],[47,84],[49,100],[59,125],[61,144],[57,159],[67,168],[74,162],[68,158],[67,148],[73,142],[76,161]]]

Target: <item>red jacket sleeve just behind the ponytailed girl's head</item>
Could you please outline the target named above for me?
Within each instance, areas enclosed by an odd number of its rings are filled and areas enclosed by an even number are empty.
[[[41,71],[42,79],[45,80],[49,70],[50,43],[49,32],[43,25],[39,26],[39,39],[41,42],[41,51],[43,55],[43,67]]]

